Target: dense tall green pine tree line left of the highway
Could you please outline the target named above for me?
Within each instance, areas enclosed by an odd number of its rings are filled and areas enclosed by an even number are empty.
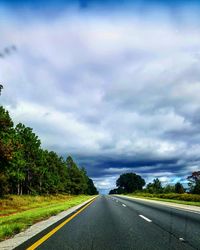
[[[1,88],[2,89],[2,88]],[[33,129],[14,123],[0,106],[0,196],[5,194],[98,194],[84,168],[44,150]]]

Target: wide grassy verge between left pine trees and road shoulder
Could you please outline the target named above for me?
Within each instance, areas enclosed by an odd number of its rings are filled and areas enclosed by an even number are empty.
[[[8,196],[0,199],[0,241],[92,198],[88,195]]]

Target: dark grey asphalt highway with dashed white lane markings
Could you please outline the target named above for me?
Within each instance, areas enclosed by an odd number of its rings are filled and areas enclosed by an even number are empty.
[[[73,216],[56,232],[47,229],[16,249],[200,249],[198,213],[123,197],[98,196]],[[44,239],[48,231],[51,236]]]

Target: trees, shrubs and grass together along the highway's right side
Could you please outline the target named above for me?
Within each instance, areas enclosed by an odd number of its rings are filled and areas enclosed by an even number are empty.
[[[180,182],[162,186],[156,178],[145,186],[145,180],[135,173],[120,175],[116,181],[117,188],[110,194],[126,194],[134,197],[143,197],[155,200],[164,200],[181,204],[200,206],[200,171],[188,176],[188,192]]]

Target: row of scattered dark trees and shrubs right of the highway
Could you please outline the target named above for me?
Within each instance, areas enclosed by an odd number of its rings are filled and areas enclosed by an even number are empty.
[[[192,175],[187,177],[189,193],[200,194],[200,171],[193,172]],[[135,173],[121,174],[116,181],[117,188],[110,190],[109,194],[125,194],[142,191],[150,194],[161,194],[161,193],[185,193],[186,190],[180,182],[174,185],[162,186],[161,181],[156,178],[153,182],[146,185],[145,180]]]

